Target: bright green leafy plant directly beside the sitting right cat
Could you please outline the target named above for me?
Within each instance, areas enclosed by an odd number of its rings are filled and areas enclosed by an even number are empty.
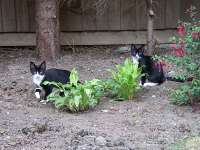
[[[111,73],[111,78],[106,82],[106,89],[117,97],[117,100],[132,99],[140,89],[141,70],[138,66],[130,59],[126,59],[123,65],[116,65],[115,69],[108,71]]]

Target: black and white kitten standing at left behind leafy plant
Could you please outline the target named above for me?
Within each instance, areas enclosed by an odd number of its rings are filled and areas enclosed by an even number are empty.
[[[53,91],[52,85],[43,85],[44,81],[54,81],[60,83],[68,83],[70,71],[61,69],[47,69],[46,62],[43,61],[40,65],[36,65],[34,62],[30,62],[30,71],[33,75],[33,83],[35,84],[35,96],[37,99],[41,99],[42,91],[44,91],[44,99]]]

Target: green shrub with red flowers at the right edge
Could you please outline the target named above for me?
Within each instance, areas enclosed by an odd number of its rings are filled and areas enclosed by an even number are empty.
[[[176,43],[171,45],[175,56],[164,57],[165,61],[176,66],[175,78],[193,79],[192,82],[171,91],[171,102],[176,105],[186,105],[200,101],[199,60],[195,60],[195,55],[200,52],[200,19],[196,17],[198,12],[194,6],[191,6],[187,12],[190,14],[191,22],[180,22],[177,28],[178,37],[171,38],[171,41]]]

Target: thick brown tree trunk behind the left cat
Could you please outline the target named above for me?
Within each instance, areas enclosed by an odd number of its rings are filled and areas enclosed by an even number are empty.
[[[58,0],[36,0],[36,49],[42,60],[60,56]]]

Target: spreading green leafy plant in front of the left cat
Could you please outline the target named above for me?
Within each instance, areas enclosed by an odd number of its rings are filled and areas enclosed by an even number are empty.
[[[58,109],[67,109],[71,112],[85,111],[94,108],[102,96],[103,83],[98,79],[78,82],[78,73],[71,71],[70,83],[62,84],[45,81],[44,85],[52,85],[56,89],[47,97]]]

